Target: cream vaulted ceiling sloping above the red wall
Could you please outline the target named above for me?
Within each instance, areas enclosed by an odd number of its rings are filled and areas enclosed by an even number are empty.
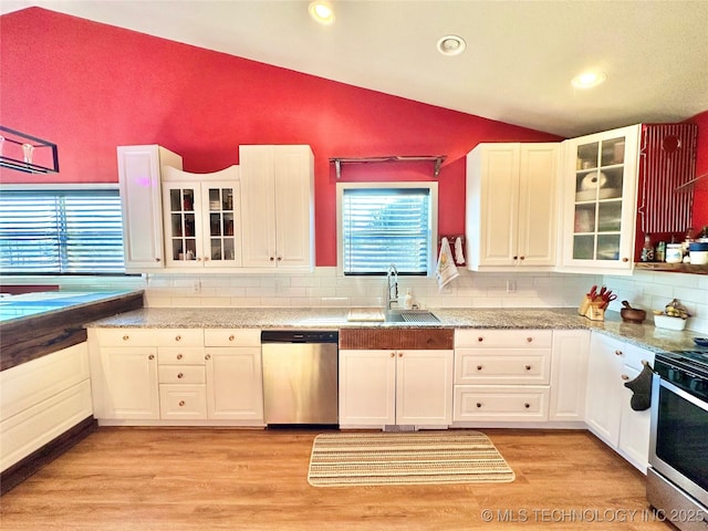
[[[708,110],[708,1],[2,0],[441,107],[577,136]],[[467,49],[436,50],[448,34]],[[571,79],[606,73],[592,90]],[[287,90],[287,87],[284,87]]]

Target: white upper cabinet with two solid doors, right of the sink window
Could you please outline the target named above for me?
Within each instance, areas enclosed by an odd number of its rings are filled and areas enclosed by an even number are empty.
[[[560,144],[479,144],[467,155],[467,259],[473,271],[555,266]]]

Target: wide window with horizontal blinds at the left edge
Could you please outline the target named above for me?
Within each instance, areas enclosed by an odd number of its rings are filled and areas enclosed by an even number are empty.
[[[117,188],[3,189],[3,273],[124,273]]]

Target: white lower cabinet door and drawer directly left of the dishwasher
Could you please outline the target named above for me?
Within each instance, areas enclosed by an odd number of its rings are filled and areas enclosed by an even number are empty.
[[[207,416],[263,424],[260,330],[205,330]]]

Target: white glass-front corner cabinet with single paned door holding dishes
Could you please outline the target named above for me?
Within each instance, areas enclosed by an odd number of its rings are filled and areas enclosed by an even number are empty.
[[[563,143],[561,269],[632,271],[639,127]]]

